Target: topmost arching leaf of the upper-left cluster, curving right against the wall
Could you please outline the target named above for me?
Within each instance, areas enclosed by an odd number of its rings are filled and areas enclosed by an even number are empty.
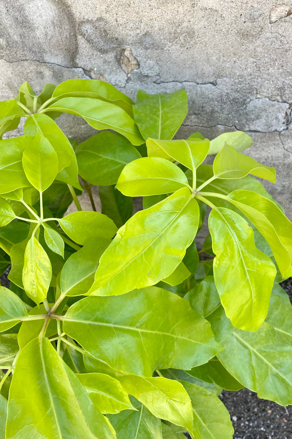
[[[73,79],[61,82],[53,93],[53,98],[65,97],[96,98],[115,103],[132,116],[133,101],[118,91],[113,85],[101,80]]]

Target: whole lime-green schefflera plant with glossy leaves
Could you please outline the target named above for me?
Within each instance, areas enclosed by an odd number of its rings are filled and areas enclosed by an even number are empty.
[[[100,131],[69,140],[61,113]],[[292,403],[278,285],[292,276],[292,223],[254,178],[275,170],[241,153],[240,131],[172,140],[186,114],[184,90],[134,104],[99,80],[38,96],[25,82],[1,102],[1,134],[26,120],[0,140],[0,437],[232,438],[222,388]]]

